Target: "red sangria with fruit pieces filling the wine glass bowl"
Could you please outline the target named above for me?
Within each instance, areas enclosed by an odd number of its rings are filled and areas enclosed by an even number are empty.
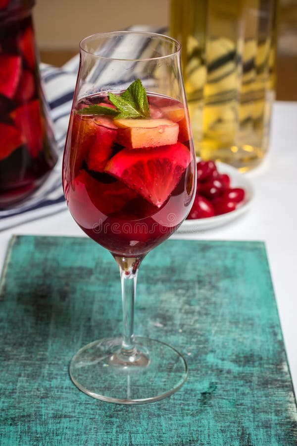
[[[120,118],[108,96],[84,99],[72,111],[65,196],[76,222],[100,245],[114,255],[141,255],[190,209],[195,161],[187,110],[148,94],[145,118]],[[97,106],[106,114],[96,114]]]

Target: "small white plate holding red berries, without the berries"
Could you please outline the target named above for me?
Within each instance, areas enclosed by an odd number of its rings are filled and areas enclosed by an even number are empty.
[[[185,220],[177,232],[190,233],[212,229],[231,222],[246,212],[249,208],[253,199],[253,188],[247,177],[243,173],[240,173],[235,167],[229,166],[228,164],[216,162],[216,166],[220,173],[227,173],[230,176],[230,184],[232,188],[242,187],[245,189],[246,194],[244,202],[237,209],[235,209],[235,211],[228,212],[227,214],[217,215],[207,219]]]

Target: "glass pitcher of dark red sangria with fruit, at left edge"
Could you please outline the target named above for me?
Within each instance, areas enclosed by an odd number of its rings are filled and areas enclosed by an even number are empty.
[[[57,152],[38,70],[32,1],[0,1],[0,209],[33,192]]]

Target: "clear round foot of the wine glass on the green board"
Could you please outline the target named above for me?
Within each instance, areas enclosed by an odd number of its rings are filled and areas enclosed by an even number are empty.
[[[122,339],[91,342],[72,358],[69,373],[83,392],[103,401],[140,404],[179,390],[188,376],[183,356],[170,345],[135,337],[137,354],[123,356]]]

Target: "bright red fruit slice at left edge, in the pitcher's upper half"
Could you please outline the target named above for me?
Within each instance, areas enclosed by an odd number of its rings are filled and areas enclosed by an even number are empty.
[[[21,75],[22,59],[20,56],[0,54],[0,94],[12,99]]]

